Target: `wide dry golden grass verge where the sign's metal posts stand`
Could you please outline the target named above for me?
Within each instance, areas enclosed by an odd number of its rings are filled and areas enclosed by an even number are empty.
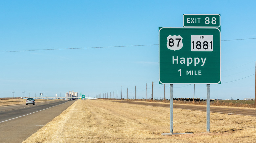
[[[206,112],[174,109],[174,133],[170,132],[170,109],[104,100],[75,101],[58,117],[23,143],[253,143],[256,117],[210,113],[210,133]]]

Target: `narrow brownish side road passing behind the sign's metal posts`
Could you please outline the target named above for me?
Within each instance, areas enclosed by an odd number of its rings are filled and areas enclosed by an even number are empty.
[[[170,103],[168,104],[168,103],[152,103],[152,102],[136,102],[136,101],[114,101],[114,102],[170,108]],[[205,106],[197,106],[197,105],[187,105],[187,104],[173,104],[173,108],[206,112],[206,105]],[[232,115],[255,116],[256,117],[256,109],[250,109],[250,108],[232,108],[232,107],[229,108],[229,107],[210,106],[210,112],[222,113],[222,114],[232,114]]]

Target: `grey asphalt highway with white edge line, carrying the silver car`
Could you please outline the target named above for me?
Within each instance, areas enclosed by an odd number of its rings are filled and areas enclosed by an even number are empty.
[[[21,143],[53,118],[62,113],[74,101],[52,100],[22,105],[0,107],[0,142]]]

